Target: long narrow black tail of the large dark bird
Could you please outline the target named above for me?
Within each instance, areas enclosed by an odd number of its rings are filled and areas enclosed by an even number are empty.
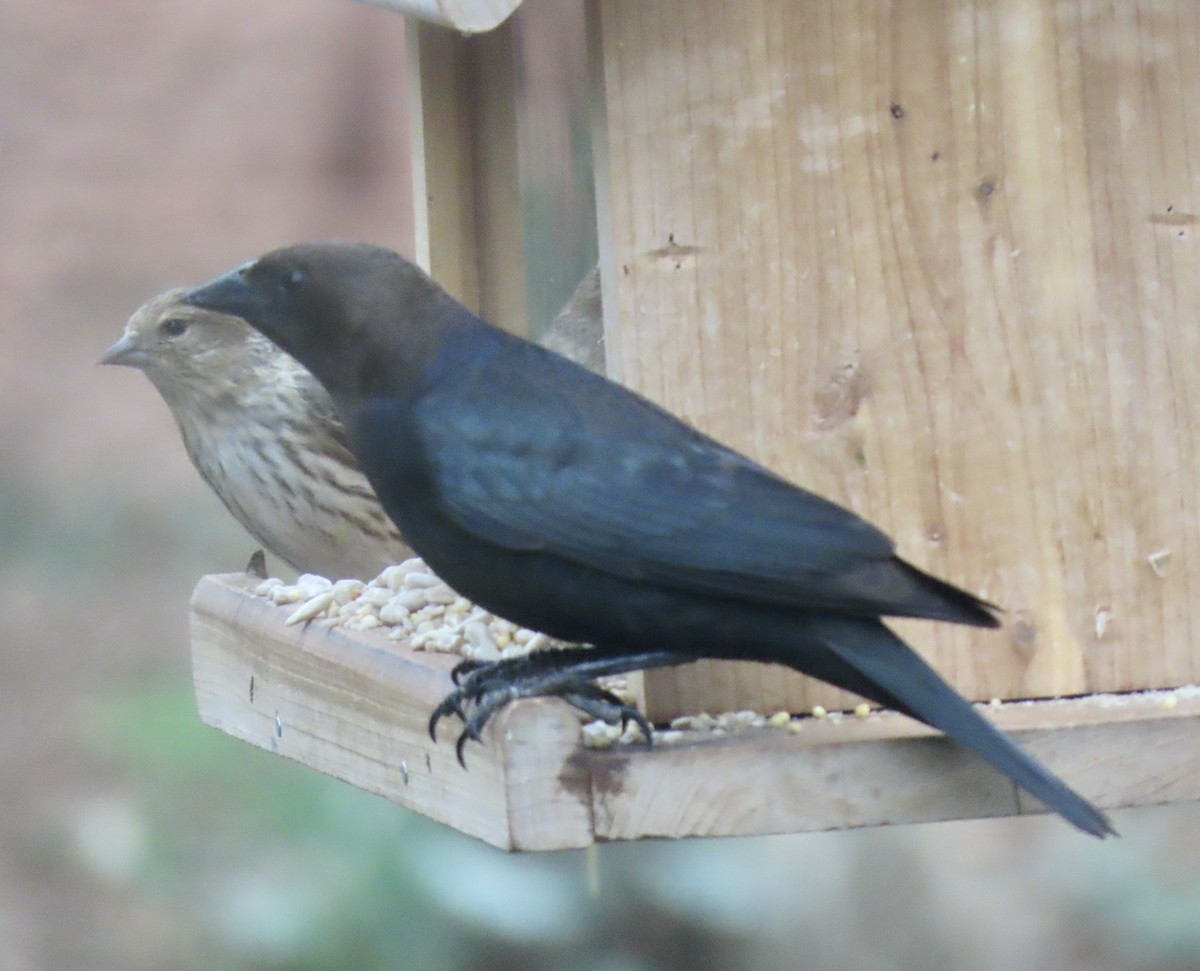
[[[881,622],[820,617],[809,631],[830,654],[814,658],[805,652],[800,664],[785,664],[924,721],[1085,833],[1116,835],[1108,816],[980,715]]]

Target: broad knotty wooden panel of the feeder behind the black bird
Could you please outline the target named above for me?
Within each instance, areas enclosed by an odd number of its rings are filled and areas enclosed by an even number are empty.
[[[594,25],[612,370],[1002,605],[1002,633],[902,625],[965,694],[1196,681],[1200,5],[604,0]],[[672,693],[846,701],[647,677],[652,713]]]

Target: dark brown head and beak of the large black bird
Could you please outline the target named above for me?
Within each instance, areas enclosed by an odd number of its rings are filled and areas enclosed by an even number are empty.
[[[380,354],[419,346],[455,304],[391,250],[304,242],[275,250],[196,287],[184,301],[244,318],[335,396],[360,390]],[[388,334],[402,334],[389,341]]]

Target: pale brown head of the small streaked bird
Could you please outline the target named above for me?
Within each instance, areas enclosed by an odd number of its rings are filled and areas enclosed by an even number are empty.
[[[138,307],[100,364],[143,371],[176,413],[211,404],[262,368],[300,370],[241,318],[185,304],[184,293],[167,290]]]

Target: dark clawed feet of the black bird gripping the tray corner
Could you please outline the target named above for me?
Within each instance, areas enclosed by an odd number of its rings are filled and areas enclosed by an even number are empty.
[[[492,663],[467,660],[450,672],[456,688],[430,715],[430,737],[437,742],[438,721],[445,715],[457,715],[463,730],[455,743],[455,751],[460,765],[466,768],[463,748],[467,742],[482,741],[484,727],[505,705],[522,697],[559,697],[589,718],[611,725],[620,723],[625,727],[632,721],[650,744],[653,726],[646,717],[612,691],[595,684],[593,678],[646,667],[666,667],[688,660],[667,652],[620,657],[598,649],[559,648]]]

